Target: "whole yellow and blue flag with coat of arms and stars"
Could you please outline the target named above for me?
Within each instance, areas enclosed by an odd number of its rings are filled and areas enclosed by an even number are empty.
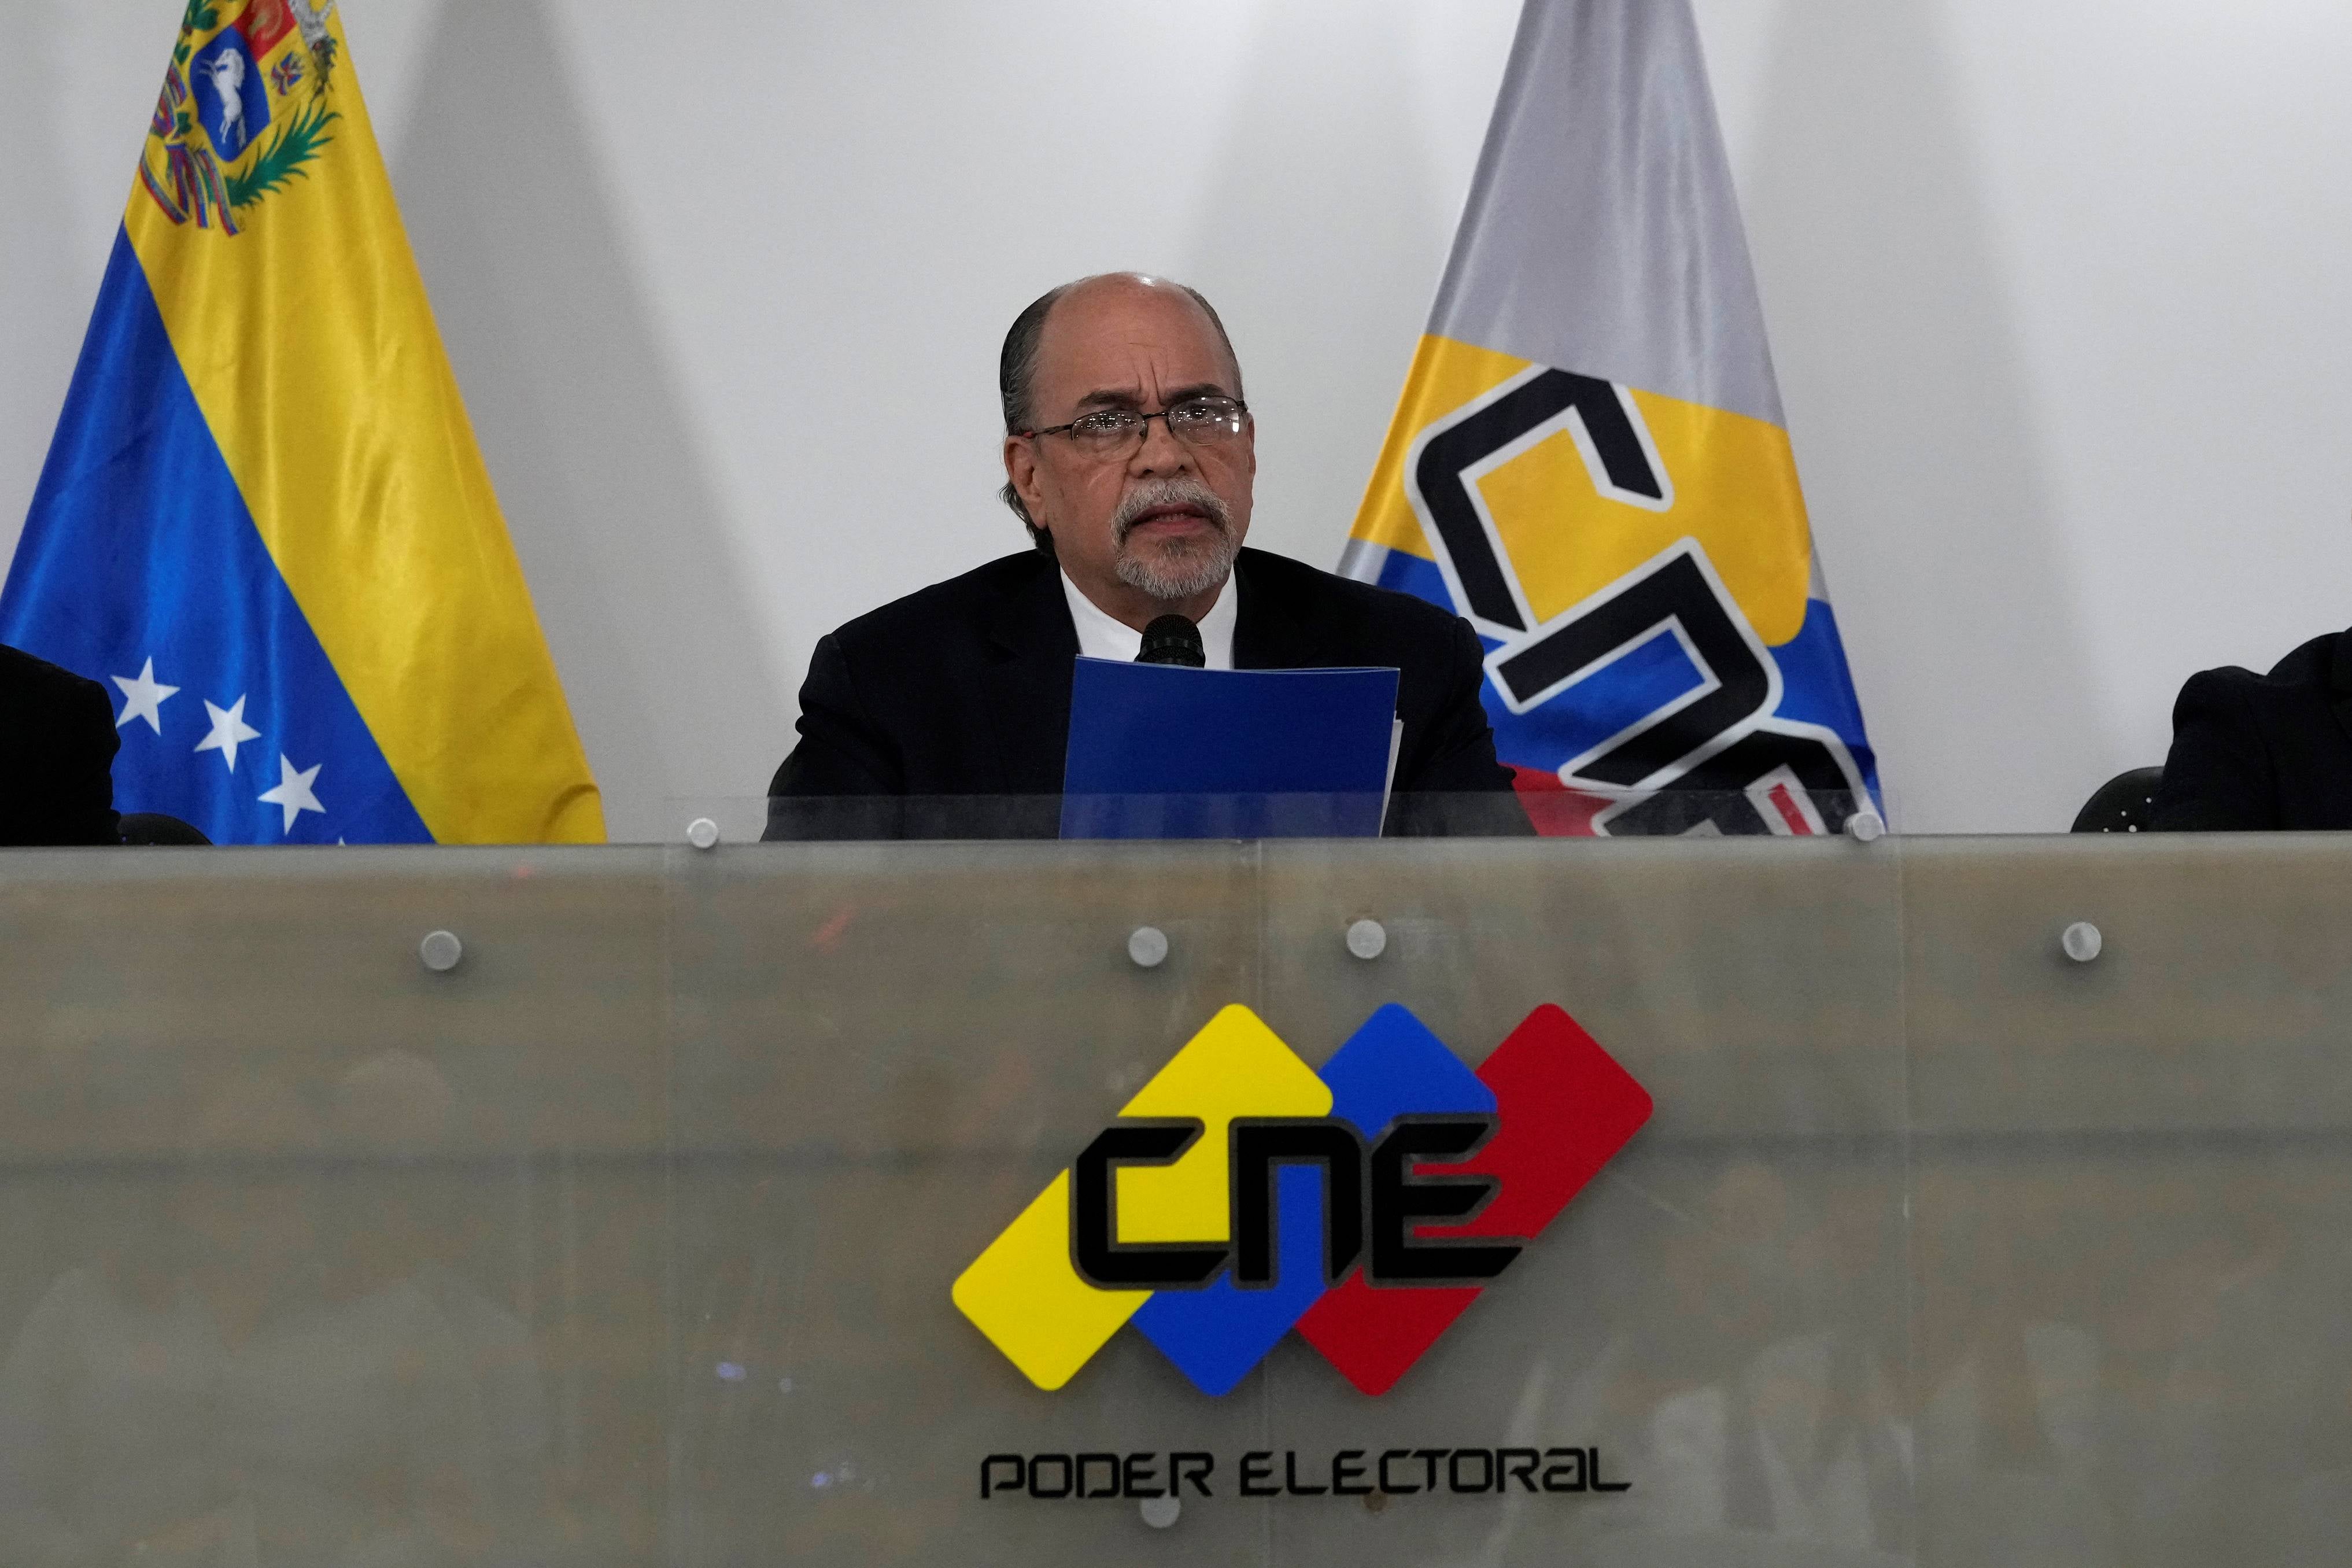
[[[0,642],[219,844],[604,837],[334,0],[188,0]]]

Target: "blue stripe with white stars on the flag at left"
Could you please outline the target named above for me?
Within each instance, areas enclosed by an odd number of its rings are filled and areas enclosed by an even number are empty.
[[[122,811],[167,811],[216,844],[433,837],[261,543],[120,230],[0,590],[0,642],[115,696]],[[153,689],[176,686],[151,698],[153,724],[122,691],[148,689],[148,661]],[[207,738],[223,743],[198,750]]]

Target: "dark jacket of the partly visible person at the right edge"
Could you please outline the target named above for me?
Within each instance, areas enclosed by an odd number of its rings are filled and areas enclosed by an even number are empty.
[[[2270,675],[2192,675],[2150,825],[2352,827],[2352,632],[2312,637]]]

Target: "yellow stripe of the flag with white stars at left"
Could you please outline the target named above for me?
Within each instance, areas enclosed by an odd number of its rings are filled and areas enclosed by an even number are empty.
[[[256,31],[270,5],[216,9]],[[332,120],[235,233],[174,223],[143,183],[122,221],[261,541],[433,837],[597,842],[604,809],[332,12],[327,28],[327,82],[299,31],[256,59],[278,118],[230,172],[282,153],[268,136],[306,101]]]

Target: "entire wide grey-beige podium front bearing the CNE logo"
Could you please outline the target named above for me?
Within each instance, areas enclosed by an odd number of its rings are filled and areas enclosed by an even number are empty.
[[[727,820],[0,858],[0,1559],[2352,1533],[2352,842]]]

